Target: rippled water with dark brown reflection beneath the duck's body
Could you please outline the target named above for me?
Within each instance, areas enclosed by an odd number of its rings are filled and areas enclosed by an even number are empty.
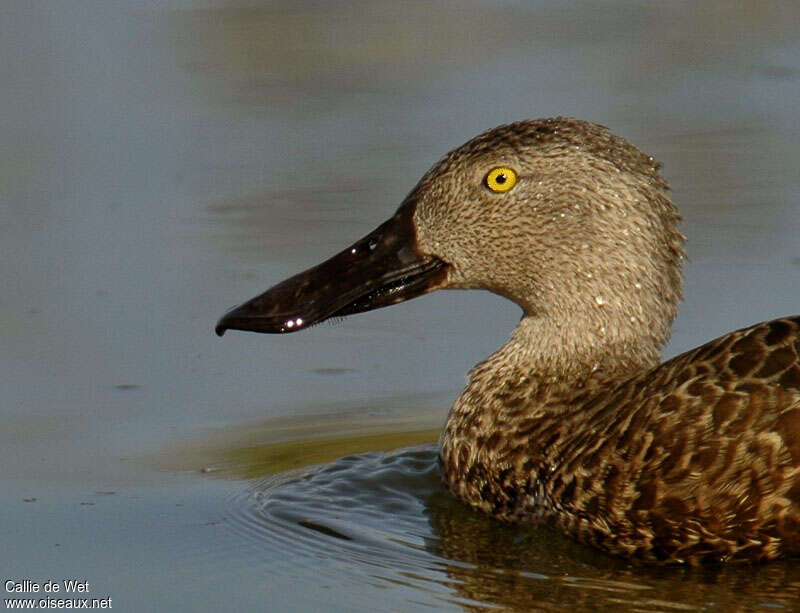
[[[546,526],[512,526],[444,491],[436,449],[365,453],[271,477],[228,517],[265,573],[403,586],[419,603],[504,610],[793,610],[800,566],[667,568],[613,559]],[[380,603],[376,609],[381,610]]]

